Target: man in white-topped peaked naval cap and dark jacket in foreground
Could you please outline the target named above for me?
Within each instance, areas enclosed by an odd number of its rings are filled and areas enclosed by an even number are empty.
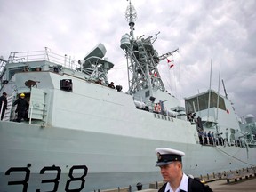
[[[185,153],[172,148],[156,148],[157,162],[166,182],[158,192],[204,192],[205,186],[199,180],[188,178],[182,171],[181,157]],[[211,188],[210,188],[210,191]]]

